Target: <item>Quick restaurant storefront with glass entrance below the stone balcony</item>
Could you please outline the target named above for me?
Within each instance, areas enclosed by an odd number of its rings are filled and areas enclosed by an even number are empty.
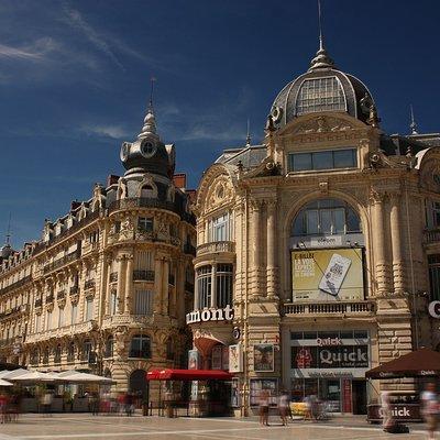
[[[290,331],[293,402],[316,396],[332,413],[366,414],[367,330]]]

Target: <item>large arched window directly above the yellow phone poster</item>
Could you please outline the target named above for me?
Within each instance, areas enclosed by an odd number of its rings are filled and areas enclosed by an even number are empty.
[[[296,216],[292,235],[331,235],[361,232],[358,213],[345,201],[320,199],[307,204]]]

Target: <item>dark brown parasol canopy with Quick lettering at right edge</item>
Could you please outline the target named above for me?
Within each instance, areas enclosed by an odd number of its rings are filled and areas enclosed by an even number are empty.
[[[365,377],[399,378],[429,377],[440,375],[440,353],[430,349],[420,349],[369,370]]]

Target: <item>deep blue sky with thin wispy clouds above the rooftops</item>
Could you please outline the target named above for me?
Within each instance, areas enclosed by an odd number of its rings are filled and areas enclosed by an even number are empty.
[[[437,0],[322,0],[326,46],[362,79],[388,133],[440,131]],[[246,119],[263,136],[271,103],[308,68],[315,0],[0,0],[0,240],[38,239],[45,218],[123,173],[150,78],[162,139],[196,187]]]

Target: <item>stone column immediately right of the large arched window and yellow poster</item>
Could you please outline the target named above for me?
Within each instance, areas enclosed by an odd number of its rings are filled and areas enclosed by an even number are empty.
[[[386,258],[386,234],[384,222],[385,195],[372,190],[371,201],[373,206],[373,243],[375,260],[375,278],[377,294],[380,296],[389,293],[389,265]]]

